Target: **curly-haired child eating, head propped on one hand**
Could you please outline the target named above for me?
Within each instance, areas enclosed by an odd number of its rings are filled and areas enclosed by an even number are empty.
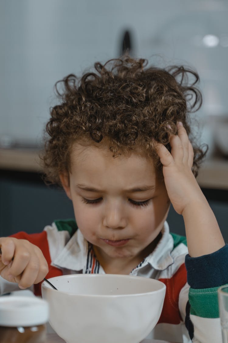
[[[68,75],[62,93],[56,87],[61,102],[51,109],[43,163],[72,200],[77,224],[1,238],[3,279],[35,284],[36,294],[45,276],[159,279],[166,296],[150,337],[222,342],[217,288],[228,283],[228,247],[195,178],[204,155],[189,140],[190,113],[201,105],[197,81],[183,67],[123,57],[95,63],[79,81]],[[170,203],[184,217],[188,249],[169,233]]]

